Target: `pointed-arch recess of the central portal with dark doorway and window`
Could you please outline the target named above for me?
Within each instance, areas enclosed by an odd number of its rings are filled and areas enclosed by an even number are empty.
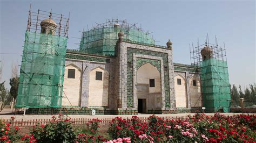
[[[161,109],[160,72],[151,63],[145,63],[137,70],[137,107],[139,113]]]

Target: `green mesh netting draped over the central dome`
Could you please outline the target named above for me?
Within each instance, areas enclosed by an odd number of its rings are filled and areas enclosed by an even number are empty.
[[[122,31],[125,40],[155,44],[149,34],[127,27],[101,27],[83,32],[80,50],[89,54],[114,55],[118,32]]]

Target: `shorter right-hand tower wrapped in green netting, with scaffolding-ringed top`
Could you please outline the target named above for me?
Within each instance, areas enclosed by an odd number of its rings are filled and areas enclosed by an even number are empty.
[[[206,112],[229,112],[231,95],[226,61],[226,49],[206,42],[192,47],[191,63],[200,67],[203,106]],[[198,42],[199,43],[199,42]]]

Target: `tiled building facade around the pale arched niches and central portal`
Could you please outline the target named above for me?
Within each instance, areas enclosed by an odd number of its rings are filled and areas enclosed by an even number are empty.
[[[142,44],[132,41],[117,42],[116,56],[99,56],[67,51],[65,66],[74,65],[82,72],[80,106],[63,106],[61,109],[29,109],[28,114],[86,114],[92,109],[96,114],[136,115],[137,103],[137,70],[150,63],[160,73],[161,109],[150,109],[146,113],[183,113],[196,112],[197,108],[190,106],[190,77],[200,75],[199,69],[191,65],[173,63],[172,48],[164,46]],[[100,67],[109,73],[109,105],[89,106],[90,71]],[[187,79],[186,98],[187,107],[176,108],[174,91],[174,76],[182,75]],[[64,85],[65,88],[65,85]],[[68,88],[68,87],[66,87]],[[72,89],[71,89],[72,90]]]

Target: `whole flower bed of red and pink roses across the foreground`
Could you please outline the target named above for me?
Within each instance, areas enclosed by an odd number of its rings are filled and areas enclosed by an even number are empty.
[[[11,120],[13,121],[13,119]],[[45,125],[36,125],[31,134],[19,134],[18,127],[1,124],[1,142],[255,142],[256,116],[213,117],[196,114],[184,120],[150,116],[148,121],[137,116],[116,117],[108,134],[99,132],[101,120],[92,119],[83,130],[72,125],[70,118],[59,115]]]

